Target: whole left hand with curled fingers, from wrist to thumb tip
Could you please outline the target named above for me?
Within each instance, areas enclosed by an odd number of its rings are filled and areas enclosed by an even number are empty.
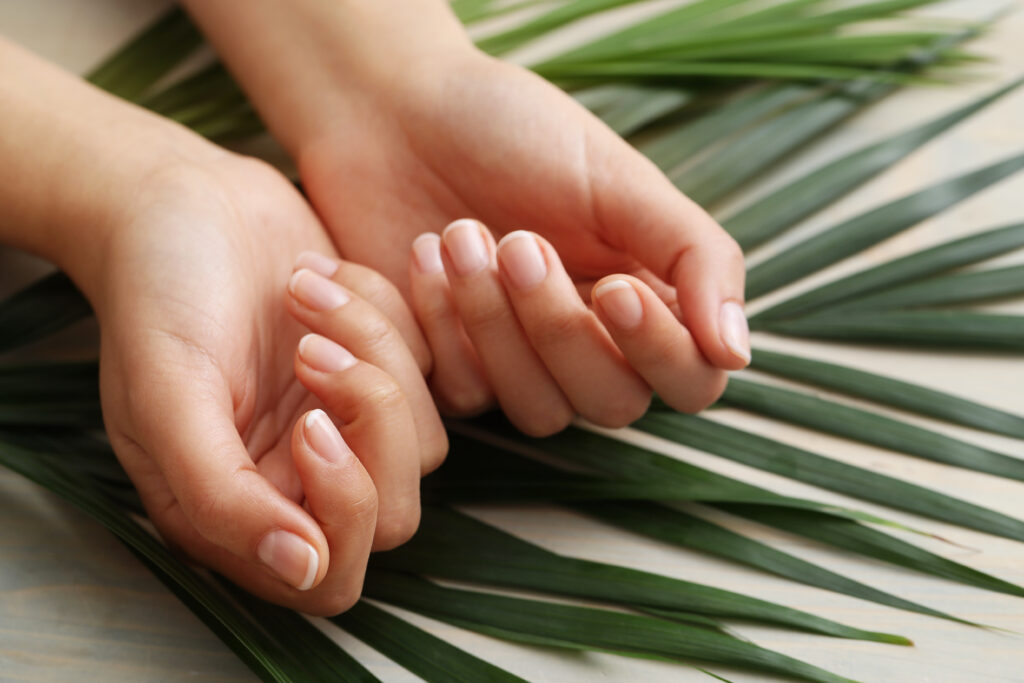
[[[293,274],[303,250],[331,253],[323,229],[231,155],[144,178],[115,223],[87,291],[108,432],[151,518],[257,595],[347,608],[371,548],[415,530],[446,450],[400,296],[318,253]]]

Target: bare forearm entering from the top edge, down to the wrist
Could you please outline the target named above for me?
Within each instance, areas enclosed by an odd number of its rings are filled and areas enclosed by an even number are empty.
[[[285,147],[472,49],[446,0],[182,0]],[[315,94],[313,94],[315,93]]]

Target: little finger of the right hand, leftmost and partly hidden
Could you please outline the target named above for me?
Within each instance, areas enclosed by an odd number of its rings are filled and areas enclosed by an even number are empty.
[[[413,242],[409,273],[413,310],[434,357],[430,376],[434,397],[451,415],[482,413],[495,396],[456,311],[441,261],[440,236],[425,232]]]

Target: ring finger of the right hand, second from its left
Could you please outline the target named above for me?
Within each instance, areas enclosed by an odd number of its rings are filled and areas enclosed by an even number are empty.
[[[441,260],[459,317],[502,410],[534,436],[565,428],[574,412],[516,319],[490,233],[476,221],[455,221],[441,234]]]

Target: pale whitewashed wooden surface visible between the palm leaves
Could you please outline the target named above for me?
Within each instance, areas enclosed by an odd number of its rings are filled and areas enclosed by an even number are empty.
[[[947,13],[984,15],[1005,2],[971,0],[948,3]],[[1024,7],[1016,0],[1011,4]],[[162,0],[0,0],[0,34],[76,71],[94,63],[148,18]],[[599,27],[601,22],[593,23]],[[768,186],[843,154],[868,140],[953,108],[1024,73],[1024,13],[1005,20],[973,48],[996,59],[975,70],[981,78],[951,88],[916,89],[873,106],[775,173]],[[2,116],[2,113],[0,113]],[[953,173],[976,168],[1024,148],[1024,92],[1007,97],[966,125],[943,135],[846,200],[808,221],[790,240],[819,229],[883,201],[901,196]],[[757,191],[757,190],[755,190]],[[826,273],[814,282],[920,249],[979,228],[1024,220],[1024,176],[988,189],[935,220],[906,232]],[[0,209],[2,217],[2,209]],[[784,242],[782,243],[784,244]],[[1020,255],[1017,255],[1020,256]],[[759,258],[759,255],[754,255]],[[1017,258],[1016,260],[1020,260]],[[43,264],[0,250],[0,294]],[[1019,310],[1019,307],[1018,307]],[[808,355],[889,373],[936,388],[956,391],[991,404],[1021,412],[1024,362],[1008,356],[897,352],[810,342],[758,338],[768,348],[795,349]],[[66,354],[59,340],[51,352]],[[943,490],[1024,518],[1024,484],[848,443],[735,412],[716,413],[776,438]],[[1021,443],[966,429],[933,426],[972,441],[1021,454]],[[1024,544],[926,521],[876,506],[849,501],[810,486],[680,447],[653,442],[670,453],[784,494],[852,503],[924,526],[961,546],[926,544],[930,550],[1018,584],[1024,584]],[[900,648],[805,636],[761,627],[742,627],[758,643],[864,681],[994,682],[1024,681],[1024,638],[972,629],[889,609],[825,591],[795,585],[727,562],[647,542],[554,508],[474,509],[481,517],[559,552],[636,566],[670,575],[705,581],[850,623],[909,636],[913,648]],[[948,610],[1002,629],[1024,633],[1024,600],[932,580],[878,562],[844,555],[753,523],[721,517],[787,552],[838,569],[904,598]],[[921,543],[920,540],[914,540]],[[970,549],[970,550],[968,550]],[[429,623],[418,616],[412,621]],[[431,624],[441,637],[525,678],[538,681],[708,680],[683,666],[620,658],[604,654],[565,654],[524,648]],[[352,639],[332,631],[354,655],[388,681],[415,680]],[[732,680],[767,677],[715,669]],[[36,681],[179,681],[249,680],[252,676],[205,627],[171,596],[103,529],[68,505],[6,471],[0,471],[0,680]]]

